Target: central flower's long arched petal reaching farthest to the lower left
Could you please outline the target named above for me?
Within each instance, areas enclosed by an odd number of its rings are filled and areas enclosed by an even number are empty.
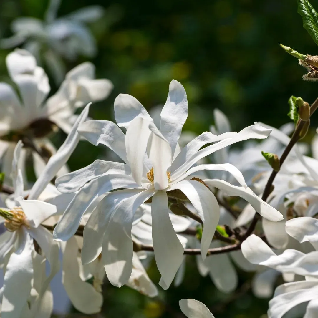
[[[118,188],[136,188],[131,176],[106,175],[93,179],[81,188],[67,207],[58,225],[53,232],[54,239],[66,241],[76,232],[79,222],[95,198],[105,194],[109,190]]]

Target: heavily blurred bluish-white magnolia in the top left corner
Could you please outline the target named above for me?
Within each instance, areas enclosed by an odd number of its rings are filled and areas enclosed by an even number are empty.
[[[23,45],[38,62],[43,58],[57,83],[63,80],[65,65],[61,57],[75,60],[78,55],[93,57],[97,48],[85,23],[99,19],[100,6],[81,8],[65,17],[56,18],[61,0],[51,0],[45,20],[19,17],[11,24],[14,35],[0,41],[1,48]]]

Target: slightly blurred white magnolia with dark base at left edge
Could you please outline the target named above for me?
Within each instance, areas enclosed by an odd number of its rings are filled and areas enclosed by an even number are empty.
[[[112,89],[112,84],[107,79],[94,79],[94,66],[84,63],[70,71],[58,92],[45,100],[50,92],[49,81],[29,52],[16,50],[10,53],[6,64],[21,97],[9,84],[0,83],[0,157],[2,171],[9,177],[18,140],[22,139],[26,143],[27,139],[46,155],[54,154],[56,149],[47,136],[56,127],[68,134],[78,117],[74,115],[76,108],[104,99]],[[26,152],[27,148],[22,149],[20,161],[23,163]],[[45,161],[34,151],[32,155],[35,173],[39,176]],[[24,164],[21,169],[24,173]],[[59,173],[63,175],[67,172],[66,167],[63,167]]]

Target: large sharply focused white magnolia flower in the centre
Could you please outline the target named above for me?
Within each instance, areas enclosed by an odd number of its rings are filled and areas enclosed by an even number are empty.
[[[78,192],[54,229],[55,239],[69,239],[76,232],[86,208],[97,197],[110,190],[122,189],[111,192],[100,201],[84,230],[83,263],[93,261],[102,251],[106,274],[112,284],[122,286],[130,277],[134,213],[151,197],[152,239],[156,264],[162,275],[161,286],[169,287],[183,260],[183,245],[169,218],[168,195],[181,190],[197,210],[204,223],[201,254],[205,259],[218,224],[219,207],[208,187],[190,176],[199,170],[229,171],[242,186],[232,186],[222,180],[204,182],[228,190],[230,195],[243,197],[266,218],[282,219],[278,211],[246,186],[242,174],[231,164],[191,168],[199,159],[235,142],[266,138],[270,130],[253,125],[239,133],[220,136],[205,132],[179,151],[178,138],[188,115],[188,103],[183,86],[175,80],[170,83],[168,99],[161,112],[160,129],[156,128],[139,101],[130,95],[120,94],[114,108],[118,125],[127,127],[126,135],[113,122],[100,120],[82,124],[79,133],[95,145],[107,145],[126,163],[96,160],[83,169],[58,178],[59,191]],[[215,143],[199,150],[211,142]]]

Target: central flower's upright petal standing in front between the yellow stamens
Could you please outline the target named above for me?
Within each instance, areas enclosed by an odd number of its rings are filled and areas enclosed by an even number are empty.
[[[171,147],[154,123],[149,124],[149,129],[151,134],[147,153],[154,168],[154,186],[156,190],[164,190],[169,183],[167,169],[171,166],[172,161]]]

